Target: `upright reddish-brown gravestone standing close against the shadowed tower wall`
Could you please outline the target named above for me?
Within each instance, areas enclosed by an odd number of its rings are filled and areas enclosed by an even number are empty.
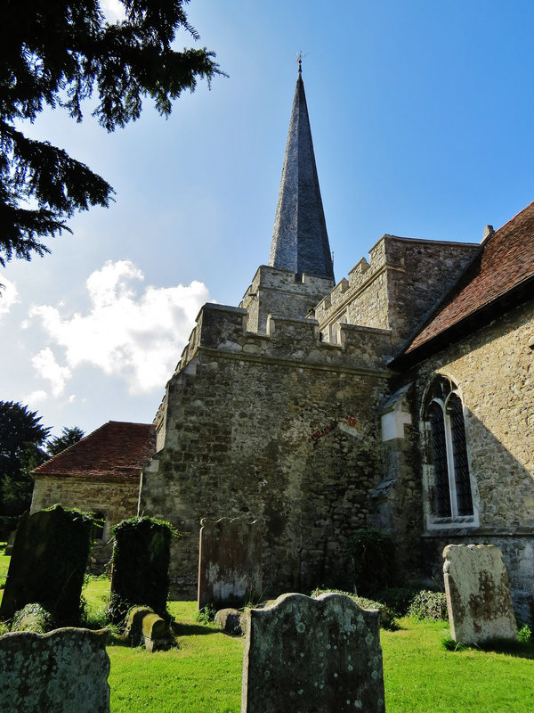
[[[262,533],[257,520],[201,521],[198,609],[242,607],[262,594]]]

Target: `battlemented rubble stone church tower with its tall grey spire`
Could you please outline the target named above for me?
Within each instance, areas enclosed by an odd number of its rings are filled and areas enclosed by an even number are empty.
[[[404,446],[384,451],[381,414],[393,349],[429,305],[421,291],[417,314],[397,319],[398,299],[407,301],[398,275],[415,273],[429,253],[442,258],[439,275],[425,275],[433,295],[432,281],[442,289],[472,252],[384,236],[370,265],[360,260],[334,284],[299,67],[269,265],[239,307],[201,309],[155,421],[140,512],[182,532],[174,594],[194,594],[203,517],[261,522],[269,594],[343,586],[347,538],[376,524],[398,535],[401,560],[417,567],[420,485],[412,471],[397,477],[407,456]]]

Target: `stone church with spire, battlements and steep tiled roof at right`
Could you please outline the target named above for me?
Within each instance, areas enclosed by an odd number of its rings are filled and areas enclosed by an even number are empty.
[[[241,516],[266,594],[343,586],[377,527],[413,577],[498,545],[529,617],[533,296],[534,203],[480,244],[385,234],[336,283],[299,68],[268,264],[200,310],[142,467],[136,510],[182,533],[173,595],[196,593],[200,520]]]

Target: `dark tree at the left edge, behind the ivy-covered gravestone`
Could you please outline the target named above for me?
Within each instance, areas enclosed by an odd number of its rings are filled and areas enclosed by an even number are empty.
[[[49,430],[28,406],[0,401],[0,516],[20,515],[29,507],[31,471],[47,458]]]

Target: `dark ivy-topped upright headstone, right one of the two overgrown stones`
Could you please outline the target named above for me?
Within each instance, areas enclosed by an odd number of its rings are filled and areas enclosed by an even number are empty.
[[[133,606],[143,605],[166,619],[173,535],[170,525],[151,518],[132,518],[119,522],[113,535],[109,616],[118,623]]]

